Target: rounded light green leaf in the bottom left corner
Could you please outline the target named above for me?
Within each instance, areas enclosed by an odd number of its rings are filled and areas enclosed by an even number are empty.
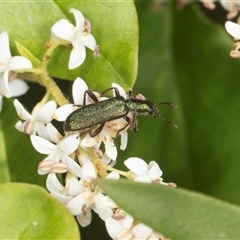
[[[67,208],[40,187],[0,185],[1,239],[79,239]]]

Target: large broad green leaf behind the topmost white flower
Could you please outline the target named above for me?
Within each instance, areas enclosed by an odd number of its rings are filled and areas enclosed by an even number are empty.
[[[13,54],[17,54],[13,45],[17,41],[43,59],[52,25],[60,19],[75,25],[70,8],[80,10],[91,21],[101,54],[94,59],[93,52],[87,50],[86,61],[71,71],[67,66],[72,46],[60,46],[50,59],[50,75],[66,80],[82,77],[92,89],[105,90],[112,82],[132,88],[138,63],[138,24],[133,1],[2,2],[0,31],[9,32]]]

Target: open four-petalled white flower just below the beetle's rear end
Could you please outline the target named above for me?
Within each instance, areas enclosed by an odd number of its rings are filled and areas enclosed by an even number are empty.
[[[81,167],[69,157],[69,155],[73,153],[79,145],[78,134],[63,138],[62,140],[59,140],[57,144],[53,144],[52,142],[36,135],[31,135],[30,138],[34,148],[38,152],[42,154],[49,154],[43,162],[54,161],[57,163],[61,161],[66,164],[68,171],[76,176],[81,176]],[[44,165],[43,162],[39,164],[39,174],[45,174],[51,170],[51,168],[48,168],[47,170],[45,170],[45,168],[41,168],[41,166]]]

